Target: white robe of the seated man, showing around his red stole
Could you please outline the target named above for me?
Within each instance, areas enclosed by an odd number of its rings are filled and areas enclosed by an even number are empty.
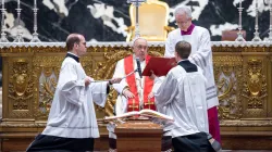
[[[137,69],[137,63],[136,63],[136,59],[135,55],[133,55],[133,66],[134,69]],[[140,62],[140,68],[141,72],[145,69],[146,67],[146,61],[141,61]],[[120,60],[116,63],[115,66],[115,71],[113,74],[113,78],[118,78],[118,77],[124,77],[125,74],[125,65],[124,65],[124,59]],[[136,87],[137,87],[137,91],[139,94],[139,104],[140,106],[143,106],[144,104],[144,86],[145,86],[145,76],[143,76],[143,78],[139,77],[138,72],[135,73],[135,79],[136,79]],[[113,84],[112,87],[118,91],[119,96],[116,99],[116,103],[115,103],[115,115],[120,115],[123,113],[126,113],[127,111],[127,99],[122,94],[122,91],[125,87],[129,87],[129,85],[126,81],[126,78],[122,79],[122,81],[120,81],[120,84]]]

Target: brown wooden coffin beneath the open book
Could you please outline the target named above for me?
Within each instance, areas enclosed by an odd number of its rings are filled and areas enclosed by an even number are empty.
[[[115,128],[119,152],[160,152],[163,128],[148,118],[133,118]],[[152,145],[152,147],[150,147]]]

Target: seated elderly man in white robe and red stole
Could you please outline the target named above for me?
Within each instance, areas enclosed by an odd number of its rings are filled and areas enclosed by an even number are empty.
[[[137,37],[132,41],[133,54],[120,60],[116,63],[113,78],[124,77],[137,69],[136,59],[139,60],[141,71],[146,67],[150,60],[148,55],[147,40]],[[143,76],[140,78],[138,73],[127,76],[122,79],[120,84],[114,84],[113,88],[119,92],[119,97],[115,103],[115,114],[120,115],[131,111],[140,111],[143,109],[151,109],[156,111],[154,98],[153,98],[153,80],[150,77]],[[109,143],[110,151],[116,149],[116,135],[114,130],[109,129]],[[171,138],[170,138],[171,139]],[[171,142],[166,142],[164,137],[162,138],[162,151],[171,149]]]

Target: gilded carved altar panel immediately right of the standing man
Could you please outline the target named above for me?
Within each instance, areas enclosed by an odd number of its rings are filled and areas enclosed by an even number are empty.
[[[242,56],[213,56],[214,77],[220,101],[220,119],[238,119],[242,117],[239,97],[242,65]]]

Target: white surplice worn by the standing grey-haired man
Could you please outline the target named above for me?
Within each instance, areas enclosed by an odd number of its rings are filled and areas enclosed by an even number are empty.
[[[208,109],[219,105],[209,31],[200,26],[195,26],[190,35],[182,35],[180,28],[171,31],[165,42],[165,58],[174,56],[175,45],[181,40],[185,40],[191,45],[189,61],[203,69],[205,77],[208,80],[206,88]]]

